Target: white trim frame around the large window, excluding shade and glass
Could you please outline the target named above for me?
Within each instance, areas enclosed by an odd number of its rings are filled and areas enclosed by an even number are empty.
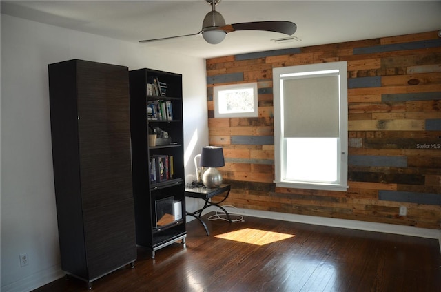
[[[320,72],[336,70],[340,75],[340,183],[302,183],[282,180],[283,157],[286,157],[286,148],[283,141],[281,121],[283,120],[282,101],[280,90],[282,79],[293,74],[302,72]],[[317,75],[319,76],[319,75]],[[273,94],[274,94],[274,166],[276,187],[288,187],[298,189],[318,189],[329,191],[347,191],[347,62],[319,63],[312,65],[298,65],[291,67],[279,67],[273,69]]]

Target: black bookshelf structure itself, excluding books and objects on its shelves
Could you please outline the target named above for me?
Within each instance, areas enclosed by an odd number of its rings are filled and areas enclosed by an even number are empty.
[[[183,107],[182,76],[159,70],[139,69],[129,72],[130,76],[130,132],[132,135],[132,174],[136,218],[136,244],[152,251],[152,258],[158,249],[181,241],[185,247],[185,183],[183,149]],[[167,85],[163,96],[149,94],[147,83],[158,80]],[[170,102],[171,120],[149,118],[149,103]],[[158,110],[158,109],[156,109]],[[170,137],[170,143],[149,146],[149,129],[161,129]],[[160,137],[158,137],[160,138]],[[154,156],[173,157],[173,177],[165,180],[151,180],[150,166]],[[155,160],[156,163],[156,160]],[[167,165],[170,166],[170,165]],[[169,169],[170,171],[170,169]],[[162,177],[162,176],[161,176]],[[156,227],[156,201],[173,197],[181,202],[182,218],[170,225]]]

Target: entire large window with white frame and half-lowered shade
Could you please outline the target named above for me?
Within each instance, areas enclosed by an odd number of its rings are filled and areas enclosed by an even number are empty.
[[[278,187],[347,189],[347,63],[273,70]]]

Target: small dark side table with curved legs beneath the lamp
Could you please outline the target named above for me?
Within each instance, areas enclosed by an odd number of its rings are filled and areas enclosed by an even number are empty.
[[[222,206],[219,205],[221,202],[227,200],[230,190],[231,190],[231,186],[226,184],[222,184],[219,187],[213,189],[209,189],[207,187],[185,187],[186,197],[205,200],[205,204],[204,207],[202,207],[202,209],[198,209],[197,211],[194,211],[192,213],[185,211],[185,213],[187,213],[187,215],[189,216],[193,216],[199,222],[201,222],[202,226],[205,228],[205,232],[207,233],[207,236],[209,236],[209,231],[207,225],[201,219],[201,214],[208,207],[216,206],[220,208],[227,215],[229,222],[230,223],[232,222],[232,219],[229,217],[229,213]],[[210,198],[213,198],[214,196],[219,196],[221,194],[224,194],[224,198],[220,200],[220,202],[212,203],[209,201]]]

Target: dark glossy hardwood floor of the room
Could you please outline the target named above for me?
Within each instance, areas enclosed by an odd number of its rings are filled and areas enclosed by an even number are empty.
[[[187,248],[173,244],[154,260],[140,248],[134,269],[92,282],[92,291],[441,291],[435,239],[251,217],[207,225],[210,236],[187,223]],[[216,237],[230,231],[232,240]],[[35,291],[85,290],[62,278]]]

